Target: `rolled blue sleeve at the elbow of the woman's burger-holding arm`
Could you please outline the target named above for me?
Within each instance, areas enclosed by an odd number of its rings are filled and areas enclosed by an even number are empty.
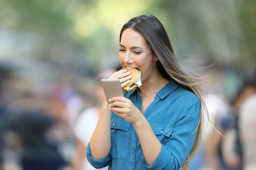
[[[102,159],[94,159],[91,155],[91,150],[90,150],[90,142],[87,145],[86,148],[86,156],[87,156],[87,160],[90,162],[90,164],[95,167],[96,169],[99,168],[103,168],[109,165],[110,161],[111,161],[111,155],[110,153],[108,153],[108,155],[105,158]]]

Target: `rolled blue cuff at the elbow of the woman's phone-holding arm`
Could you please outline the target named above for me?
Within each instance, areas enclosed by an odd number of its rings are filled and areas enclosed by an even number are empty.
[[[146,163],[146,166],[148,170],[163,170],[169,163],[170,159],[169,150],[167,150],[166,147],[162,144],[162,148],[159,155],[157,156],[157,159],[154,160],[150,166]]]

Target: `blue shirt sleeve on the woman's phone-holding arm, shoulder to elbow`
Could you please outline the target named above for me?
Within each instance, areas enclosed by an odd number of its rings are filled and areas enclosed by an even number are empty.
[[[200,108],[199,102],[193,103],[180,114],[157,159],[150,166],[146,164],[149,170],[180,170],[195,142]]]

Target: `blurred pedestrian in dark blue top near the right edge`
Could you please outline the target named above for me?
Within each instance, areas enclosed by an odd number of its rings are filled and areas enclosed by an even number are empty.
[[[240,109],[241,105],[250,96],[256,93],[256,82],[254,79],[246,79],[241,86],[236,98],[231,103],[231,109],[227,116],[221,120],[221,129],[224,131],[225,138],[219,144],[219,155],[223,166],[230,167],[231,170],[241,170],[242,147],[240,141]],[[226,168],[228,169],[228,168]]]

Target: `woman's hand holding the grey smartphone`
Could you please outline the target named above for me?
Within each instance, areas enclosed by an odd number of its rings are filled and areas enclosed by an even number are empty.
[[[111,111],[133,125],[140,120],[141,116],[143,116],[143,114],[131,102],[131,100],[125,97],[113,97],[109,100],[109,102],[111,103],[109,105],[109,109]]]

